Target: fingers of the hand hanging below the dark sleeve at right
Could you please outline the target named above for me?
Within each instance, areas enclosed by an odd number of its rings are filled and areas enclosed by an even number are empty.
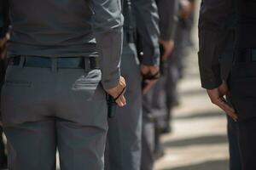
[[[237,122],[237,114],[236,111],[228,104],[228,102],[224,98],[218,98],[212,102],[215,105],[218,105],[220,109],[225,111],[225,113],[230,116],[235,122]]]

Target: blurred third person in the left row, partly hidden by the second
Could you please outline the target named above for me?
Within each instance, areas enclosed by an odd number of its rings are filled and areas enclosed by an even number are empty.
[[[167,60],[174,48],[173,38],[175,35],[177,0],[157,0],[157,6],[160,14],[160,44],[163,48],[162,63]],[[151,90],[143,96],[143,154],[142,170],[151,170],[154,167],[154,151],[157,146],[155,138],[158,133],[155,131],[159,127],[159,115],[155,113],[155,105],[165,105],[163,100],[154,99],[158,84],[162,77],[156,82]],[[162,93],[160,94],[162,95]],[[164,96],[166,96],[164,94]],[[166,116],[166,113],[164,113]]]

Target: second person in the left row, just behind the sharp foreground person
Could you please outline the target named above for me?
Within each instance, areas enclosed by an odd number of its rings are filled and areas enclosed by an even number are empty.
[[[139,170],[142,140],[142,76],[154,76],[159,71],[159,17],[154,0],[124,0],[124,46],[121,75],[125,77],[127,105],[118,108],[108,120],[106,168],[109,170]],[[137,33],[143,44],[143,58],[137,56]],[[142,69],[142,70],[141,70]]]

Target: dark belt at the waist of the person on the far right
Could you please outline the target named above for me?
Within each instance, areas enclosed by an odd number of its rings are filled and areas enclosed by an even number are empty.
[[[246,48],[236,54],[235,63],[256,62],[256,48]]]

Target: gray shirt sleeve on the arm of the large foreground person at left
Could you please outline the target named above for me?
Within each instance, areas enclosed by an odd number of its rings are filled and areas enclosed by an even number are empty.
[[[93,31],[100,55],[102,85],[108,90],[119,83],[123,42],[123,16],[119,0],[92,0]]]

